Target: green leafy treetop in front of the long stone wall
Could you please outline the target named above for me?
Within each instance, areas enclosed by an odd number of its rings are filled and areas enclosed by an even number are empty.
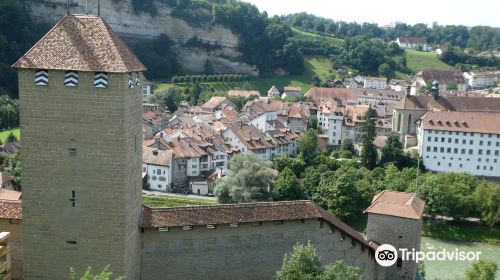
[[[293,246],[291,254],[285,253],[281,270],[274,280],[314,280],[321,274],[321,262],[311,243]]]

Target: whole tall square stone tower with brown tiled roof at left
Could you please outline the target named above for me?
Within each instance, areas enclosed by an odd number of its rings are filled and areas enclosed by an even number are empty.
[[[13,67],[24,279],[106,265],[139,279],[144,66],[100,16],[68,15]]]

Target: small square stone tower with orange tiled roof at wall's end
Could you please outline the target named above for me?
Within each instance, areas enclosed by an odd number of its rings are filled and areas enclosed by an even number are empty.
[[[379,245],[390,244],[398,251],[400,248],[420,250],[424,207],[424,201],[413,193],[380,192],[365,211],[368,213],[367,240]],[[393,266],[380,270],[385,277],[379,279],[414,280],[417,269],[415,262],[403,261],[399,256]]]

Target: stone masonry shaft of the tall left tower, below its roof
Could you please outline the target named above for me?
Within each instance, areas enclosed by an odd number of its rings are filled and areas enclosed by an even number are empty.
[[[78,74],[77,87],[51,70],[48,86],[36,86],[34,70],[19,71],[24,279],[105,265],[138,279],[140,88],[126,74],[110,73],[106,89],[94,88],[93,72]]]

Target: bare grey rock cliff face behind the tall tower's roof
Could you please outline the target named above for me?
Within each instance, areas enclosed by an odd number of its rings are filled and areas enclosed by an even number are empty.
[[[67,0],[23,0],[31,9],[35,20],[57,22],[66,14]],[[71,0],[71,13],[97,14],[97,0]],[[88,2],[88,5],[86,5]],[[154,38],[162,33],[176,42],[175,50],[179,63],[188,71],[203,72],[205,62],[212,63],[219,73],[242,73],[258,75],[255,66],[241,62],[237,46],[239,38],[228,28],[219,24],[193,26],[172,16],[172,8],[161,1],[156,2],[158,13],[134,13],[131,0],[101,0],[101,16],[111,28],[125,39]],[[189,39],[197,37],[203,42],[217,44],[213,51],[183,46]]]

